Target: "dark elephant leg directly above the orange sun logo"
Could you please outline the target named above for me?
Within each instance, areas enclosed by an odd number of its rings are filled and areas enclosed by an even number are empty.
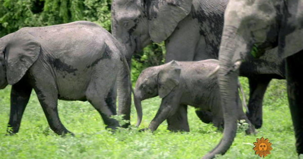
[[[258,77],[248,78],[249,80],[249,102],[246,113],[248,119],[255,128],[262,126],[262,101],[266,88],[271,81],[271,78],[259,75]]]

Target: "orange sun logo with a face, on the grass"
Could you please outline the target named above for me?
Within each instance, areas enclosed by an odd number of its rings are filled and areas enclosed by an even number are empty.
[[[268,139],[264,139],[263,137],[261,137],[261,139],[257,138],[257,142],[254,142],[254,145],[255,147],[253,150],[255,150],[255,154],[259,155],[260,157],[267,156],[272,150],[271,143],[268,142]]]

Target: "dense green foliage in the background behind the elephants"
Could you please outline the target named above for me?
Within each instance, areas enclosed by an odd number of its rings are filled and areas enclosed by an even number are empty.
[[[0,37],[22,27],[56,25],[87,20],[111,32],[111,0],[0,0]],[[160,65],[164,44],[151,44],[134,56],[133,82],[148,66]]]

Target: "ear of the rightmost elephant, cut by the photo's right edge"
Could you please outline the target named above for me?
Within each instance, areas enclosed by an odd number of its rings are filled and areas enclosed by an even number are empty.
[[[282,58],[291,56],[303,49],[303,1],[284,2],[283,17],[278,37],[278,51]]]

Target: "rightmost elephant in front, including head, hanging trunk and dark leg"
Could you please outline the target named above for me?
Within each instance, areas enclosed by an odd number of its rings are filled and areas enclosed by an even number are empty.
[[[262,50],[278,47],[273,57],[285,58],[289,108],[296,149],[303,154],[303,0],[231,0],[225,11],[218,81],[224,110],[224,135],[203,158],[224,154],[236,134],[237,81],[239,66],[249,60],[253,45]],[[268,62],[268,59],[265,59]]]

